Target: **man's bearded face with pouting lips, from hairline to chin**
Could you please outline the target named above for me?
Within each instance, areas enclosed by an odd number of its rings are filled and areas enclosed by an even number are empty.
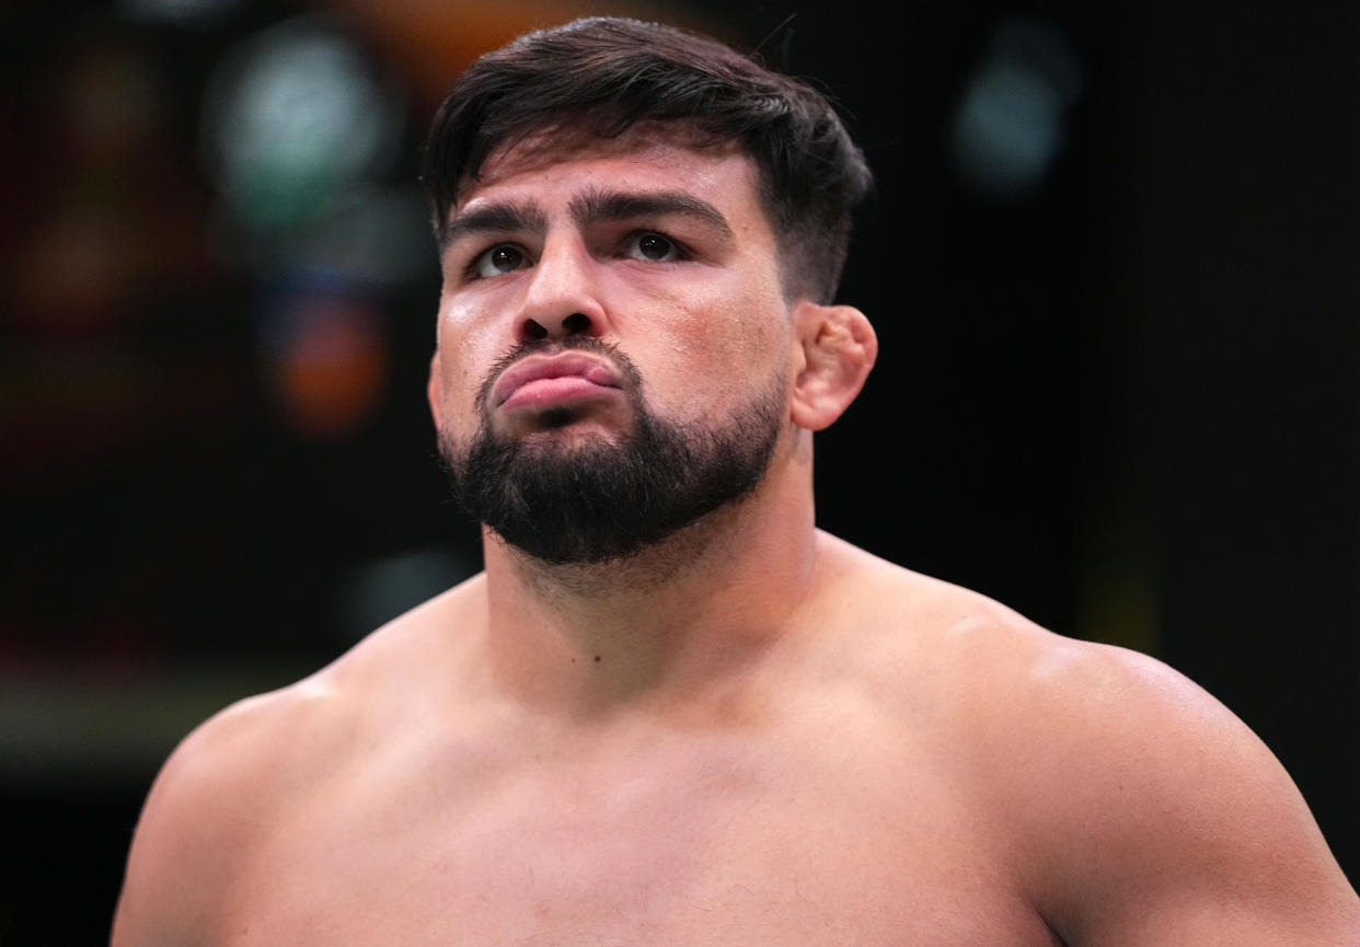
[[[749,158],[656,128],[530,139],[465,185],[446,235],[430,397],[473,516],[600,562],[756,486],[793,350]]]

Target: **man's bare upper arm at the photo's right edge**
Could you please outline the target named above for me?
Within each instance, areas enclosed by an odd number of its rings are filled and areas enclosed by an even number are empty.
[[[1152,659],[1074,653],[1023,688],[1015,800],[1028,883],[1068,943],[1360,944],[1360,898],[1265,744]]]

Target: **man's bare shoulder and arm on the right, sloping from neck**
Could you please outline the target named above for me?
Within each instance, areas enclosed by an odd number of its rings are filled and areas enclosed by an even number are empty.
[[[1360,944],[1360,898],[1270,750],[1167,664],[860,563],[903,679],[1069,944]],[[894,625],[896,623],[896,627]],[[910,674],[910,676],[907,676]]]

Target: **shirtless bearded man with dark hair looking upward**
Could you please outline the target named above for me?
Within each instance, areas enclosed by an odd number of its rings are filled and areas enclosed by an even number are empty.
[[[820,95],[579,22],[469,69],[427,182],[486,571],[184,742],[117,947],[1360,944],[1213,698],[815,528],[874,359]]]

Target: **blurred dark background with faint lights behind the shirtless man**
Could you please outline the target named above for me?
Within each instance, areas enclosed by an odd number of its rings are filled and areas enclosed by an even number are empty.
[[[821,524],[1198,680],[1360,876],[1360,8],[957,7],[0,8],[0,944],[102,942],[188,729],[477,569],[418,146],[593,12],[759,46],[877,170]]]

